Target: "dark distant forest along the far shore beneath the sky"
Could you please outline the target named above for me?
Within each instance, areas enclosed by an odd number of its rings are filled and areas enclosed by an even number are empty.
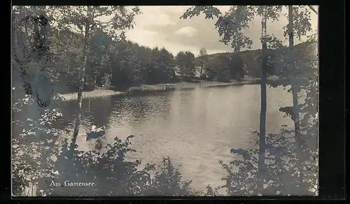
[[[57,92],[76,92],[83,36],[68,30],[54,30],[51,43],[59,64],[66,65],[59,69]],[[197,77],[220,82],[244,78],[244,63],[239,55],[209,58],[202,48],[197,58],[189,51],[181,51],[174,57],[165,48],[148,48],[127,40],[113,41],[102,30],[94,31],[91,36],[89,52],[85,91],[97,87],[123,91],[142,84],[174,83]]]

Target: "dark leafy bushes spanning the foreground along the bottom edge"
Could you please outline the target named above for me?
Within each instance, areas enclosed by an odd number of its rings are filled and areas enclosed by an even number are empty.
[[[255,132],[255,134],[258,134]],[[210,185],[204,191],[195,191],[191,181],[183,180],[179,168],[175,168],[169,158],[164,158],[159,170],[155,164],[146,163],[141,168],[141,161],[127,161],[130,139],[122,141],[115,138],[113,145],[106,145],[106,152],[98,150],[89,152],[74,151],[73,159],[69,159],[68,143],[59,159],[52,166],[57,175],[51,174],[50,181],[64,183],[71,178],[71,182],[94,182],[94,187],[50,187],[50,182],[38,178],[37,195],[45,196],[219,196],[218,191],[225,189],[230,196],[255,195],[304,195],[309,190],[310,195],[316,193],[317,161],[304,161],[304,168],[308,168],[304,184],[298,183],[299,172],[295,168],[295,141],[293,133],[288,129],[281,129],[278,134],[267,137],[267,173],[265,174],[264,189],[258,189],[256,173],[258,165],[258,149],[231,150],[241,159],[232,161],[229,165],[220,161],[228,175],[223,177],[225,184],[216,188]],[[98,145],[97,145],[98,146]],[[258,137],[256,146],[258,147]],[[234,169],[234,166],[238,167]],[[48,177],[46,177],[48,179]],[[45,189],[45,190],[44,190]]]

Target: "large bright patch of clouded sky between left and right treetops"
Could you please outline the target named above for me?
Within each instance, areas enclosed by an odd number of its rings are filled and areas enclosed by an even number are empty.
[[[153,48],[165,47],[172,54],[185,50],[198,54],[200,48],[207,48],[208,53],[232,50],[228,45],[218,42],[220,36],[214,27],[214,20],[204,20],[204,17],[180,20],[180,16],[189,6],[141,6],[140,8],[143,14],[135,17],[136,26],[126,33],[132,41]],[[148,12],[169,23],[154,23],[148,17],[151,15]],[[152,32],[152,35],[149,32]]]

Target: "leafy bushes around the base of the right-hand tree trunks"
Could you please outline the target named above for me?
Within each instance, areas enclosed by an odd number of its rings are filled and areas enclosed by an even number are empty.
[[[255,132],[255,147],[250,150],[232,149],[231,153],[241,159],[229,164],[220,161],[228,175],[223,177],[224,188],[230,196],[300,196],[315,195],[318,191],[318,161],[317,156],[311,156],[302,161],[304,180],[299,180],[300,171],[297,169],[296,149],[293,131],[282,128],[279,133],[268,134],[266,141],[264,187],[257,185],[258,169],[258,133]],[[237,170],[238,168],[238,170]]]

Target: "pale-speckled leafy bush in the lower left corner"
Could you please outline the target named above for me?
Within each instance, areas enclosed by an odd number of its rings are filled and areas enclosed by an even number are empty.
[[[19,196],[23,195],[26,187],[37,184],[38,180],[54,177],[55,155],[59,154],[57,138],[64,131],[54,125],[62,117],[60,110],[36,110],[36,103],[31,95],[15,101],[13,114],[18,116],[13,120],[13,195]],[[20,120],[20,116],[27,119]]]

